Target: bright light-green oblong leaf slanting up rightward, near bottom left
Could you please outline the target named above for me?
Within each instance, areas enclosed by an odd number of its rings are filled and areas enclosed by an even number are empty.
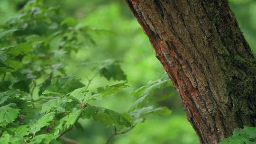
[[[50,112],[44,115],[43,117],[38,119],[35,123],[33,123],[30,126],[31,127],[30,132],[33,135],[35,135],[38,131],[40,131],[42,127],[50,125],[49,122],[53,120],[54,116],[55,116],[54,112]]]

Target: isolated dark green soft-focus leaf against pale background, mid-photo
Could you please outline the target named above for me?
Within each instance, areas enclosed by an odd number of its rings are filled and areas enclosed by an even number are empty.
[[[110,80],[110,79],[117,80],[117,81],[127,80],[126,75],[121,69],[119,62],[114,60],[104,61],[101,67],[99,68],[99,71],[100,71],[100,75],[104,76],[107,80]]]

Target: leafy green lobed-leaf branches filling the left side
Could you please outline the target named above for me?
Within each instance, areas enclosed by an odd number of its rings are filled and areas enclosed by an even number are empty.
[[[46,7],[43,0],[28,1],[16,17],[0,26],[1,144],[59,144],[58,139],[73,127],[83,130],[81,118],[113,126],[116,135],[123,134],[148,114],[171,113],[151,105],[157,101],[152,100],[156,91],[171,86],[166,76],[136,90],[137,101],[127,112],[91,104],[128,84],[120,62],[112,59],[99,62],[87,84],[67,74],[64,60],[95,45],[90,30],[73,18],[62,18],[60,8]],[[98,75],[119,82],[91,90]]]

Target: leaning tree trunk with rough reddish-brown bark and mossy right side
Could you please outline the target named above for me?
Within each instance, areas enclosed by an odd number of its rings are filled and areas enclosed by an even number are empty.
[[[227,0],[126,0],[201,144],[256,126],[256,59]]]

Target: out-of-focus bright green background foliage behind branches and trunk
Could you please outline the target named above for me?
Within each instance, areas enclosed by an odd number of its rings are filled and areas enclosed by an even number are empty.
[[[0,21],[15,16],[27,0],[0,0]],[[114,58],[118,60],[125,71],[131,87],[117,93],[116,97],[103,99],[101,105],[118,112],[127,111],[136,98],[132,91],[146,85],[148,81],[161,77],[163,67],[155,58],[154,50],[148,38],[143,33],[137,20],[126,7],[124,0],[45,0],[49,6],[59,6],[61,15],[78,20],[92,31],[90,35],[94,42],[84,46],[79,53],[71,53],[71,58],[65,60],[69,64],[66,71],[76,75],[83,83],[87,82],[85,75],[90,73],[88,65]],[[244,35],[256,54],[256,0],[230,0],[231,9],[238,19]],[[55,41],[53,45],[58,45]],[[73,65],[72,63],[78,63]],[[92,66],[93,67],[93,66]],[[88,77],[91,77],[90,74]],[[95,78],[92,89],[113,83],[112,80]],[[39,89],[35,90],[36,92]],[[170,117],[151,116],[145,123],[138,124],[131,132],[117,136],[111,144],[199,144],[197,135],[187,121],[179,98],[173,88],[163,89],[155,95],[172,95],[159,106],[167,106],[174,112]],[[37,96],[35,97],[37,99]],[[112,134],[111,128],[91,120],[79,121],[83,132],[73,129],[66,136],[82,144],[104,144]],[[103,128],[102,128],[103,127]]]

